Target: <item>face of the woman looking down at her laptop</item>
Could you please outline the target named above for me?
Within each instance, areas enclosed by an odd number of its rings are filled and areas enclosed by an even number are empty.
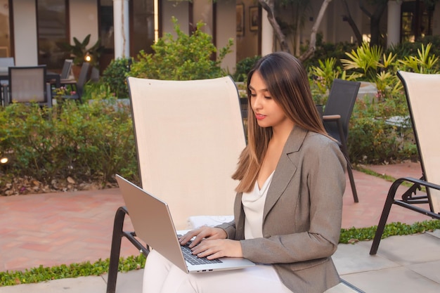
[[[287,118],[280,106],[275,103],[271,93],[268,92],[266,82],[261,78],[259,72],[254,72],[250,79],[250,105],[254,111],[257,123],[261,127],[273,127],[288,125],[292,121]]]

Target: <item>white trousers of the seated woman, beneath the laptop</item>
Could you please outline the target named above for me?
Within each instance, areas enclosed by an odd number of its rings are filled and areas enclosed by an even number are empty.
[[[152,250],[143,273],[143,293],[292,293],[273,266],[257,265],[232,271],[184,273]]]

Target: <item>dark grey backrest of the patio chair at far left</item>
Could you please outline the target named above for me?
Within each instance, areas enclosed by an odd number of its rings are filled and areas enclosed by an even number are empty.
[[[38,102],[51,106],[46,84],[46,65],[9,67],[9,99],[6,104]]]

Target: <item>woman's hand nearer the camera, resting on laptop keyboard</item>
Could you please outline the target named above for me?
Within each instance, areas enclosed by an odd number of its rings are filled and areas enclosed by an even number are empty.
[[[207,259],[243,256],[240,241],[230,239],[205,239],[193,247],[192,250],[193,254],[197,254],[199,257],[206,256]]]

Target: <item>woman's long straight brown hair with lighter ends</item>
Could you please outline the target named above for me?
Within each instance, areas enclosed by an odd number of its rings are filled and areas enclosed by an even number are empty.
[[[247,146],[242,151],[238,167],[232,176],[240,181],[235,188],[238,192],[250,192],[254,188],[261,162],[272,137],[271,127],[263,128],[257,124],[250,104],[249,85],[254,72],[259,72],[273,100],[296,126],[328,136],[313,103],[309,79],[302,63],[285,52],[264,56],[247,74]]]

